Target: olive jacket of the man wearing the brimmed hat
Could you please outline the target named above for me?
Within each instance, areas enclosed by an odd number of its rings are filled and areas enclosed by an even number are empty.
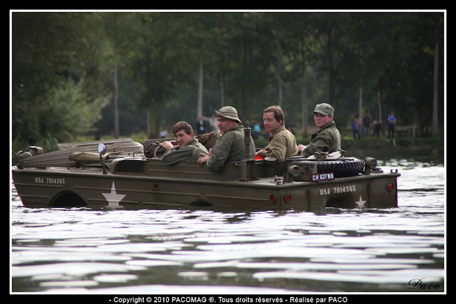
[[[244,159],[244,127],[239,125],[219,137],[215,143],[215,154],[207,160],[207,167],[212,171],[220,171],[227,162],[240,162]],[[250,157],[255,156],[255,143],[250,137]]]

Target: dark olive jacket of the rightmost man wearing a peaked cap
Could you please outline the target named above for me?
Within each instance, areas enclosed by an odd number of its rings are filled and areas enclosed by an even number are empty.
[[[301,155],[309,157],[315,152],[336,152],[341,150],[341,134],[335,122],[329,122],[323,129],[312,134],[311,142],[302,150]]]

